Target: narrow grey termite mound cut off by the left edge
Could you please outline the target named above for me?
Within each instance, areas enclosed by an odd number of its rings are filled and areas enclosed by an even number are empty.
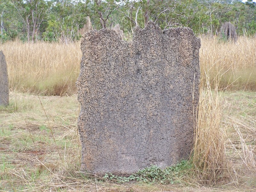
[[[9,87],[8,87],[8,75],[7,66],[4,57],[4,53],[0,51],[0,105],[9,104]]]

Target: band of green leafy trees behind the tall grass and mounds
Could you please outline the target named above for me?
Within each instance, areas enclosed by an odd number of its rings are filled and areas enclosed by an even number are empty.
[[[87,16],[94,29],[119,23],[128,36],[135,26],[144,27],[148,20],[162,29],[184,26],[208,35],[216,34],[222,23],[230,21],[238,35],[256,33],[252,0],[2,0],[0,13],[4,22],[2,42],[17,37],[24,41],[76,41]]]

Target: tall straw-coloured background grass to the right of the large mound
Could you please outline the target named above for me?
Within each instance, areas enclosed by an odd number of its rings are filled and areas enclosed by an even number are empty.
[[[255,37],[240,36],[236,43],[203,37],[201,44],[201,74],[209,72],[212,89],[218,86],[223,90],[256,90]]]

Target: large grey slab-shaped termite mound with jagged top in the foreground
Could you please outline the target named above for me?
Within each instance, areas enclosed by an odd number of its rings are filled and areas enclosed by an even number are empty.
[[[128,175],[188,157],[199,99],[200,40],[190,28],[85,34],[77,79],[82,171]]]

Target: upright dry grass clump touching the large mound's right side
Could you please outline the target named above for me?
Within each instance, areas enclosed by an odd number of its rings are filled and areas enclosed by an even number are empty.
[[[225,126],[222,125],[223,103],[218,86],[212,90],[209,75],[204,71],[200,84],[197,124],[194,136],[193,163],[197,177],[216,183],[225,179]]]

